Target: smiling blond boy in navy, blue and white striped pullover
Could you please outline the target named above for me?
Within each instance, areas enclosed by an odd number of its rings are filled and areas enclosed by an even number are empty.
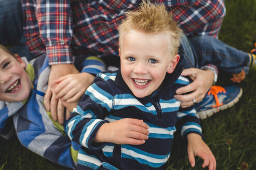
[[[66,129],[83,147],[77,169],[166,169],[176,126],[188,141],[188,158],[215,169],[193,106],[180,108],[180,29],[164,5],[143,2],[119,26],[120,69],[98,74]],[[177,66],[177,67],[176,67]]]

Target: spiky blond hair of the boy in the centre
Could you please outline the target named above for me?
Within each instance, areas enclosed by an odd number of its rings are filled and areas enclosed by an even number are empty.
[[[164,4],[152,4],[143,1],[136,11],[125,13],[126,19],[119,25],[119,48],[123,43],[124,33],[129,30],[139,30],[144,33],[160,34],[166,32],[170,36],[171,54],[178,53],[181,30],[176,21],[172,19]]]

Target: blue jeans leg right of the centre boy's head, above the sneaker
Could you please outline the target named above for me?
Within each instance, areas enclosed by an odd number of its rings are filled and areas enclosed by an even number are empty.
[[[181,37],[179,54],[181,55],[180,64],[184,68],[200,68],[207,64],[213,64],[232,76],[242,70],[248,74],[249,54],[236,48],[228,46],[217,38],[201,35],[196,37]]]

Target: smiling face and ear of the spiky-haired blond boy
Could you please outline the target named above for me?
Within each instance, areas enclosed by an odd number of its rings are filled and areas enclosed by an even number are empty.
[[[122,77],[137,97],[157,90],[166,73],[172,73],[179,61],[179,55],[171,56],[167,34],[146,34],[137,30],[124,34],[119,55]]]

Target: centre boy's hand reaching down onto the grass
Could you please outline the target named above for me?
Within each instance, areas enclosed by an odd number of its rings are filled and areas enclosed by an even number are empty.
[[[195,166],[195,156],[204,160],[202,167],[208,166],[209,170],[216,169],[216,160],[210,148],[204,143],[200,135],[191,133],[187,135],[187,154],[191,166]]]

